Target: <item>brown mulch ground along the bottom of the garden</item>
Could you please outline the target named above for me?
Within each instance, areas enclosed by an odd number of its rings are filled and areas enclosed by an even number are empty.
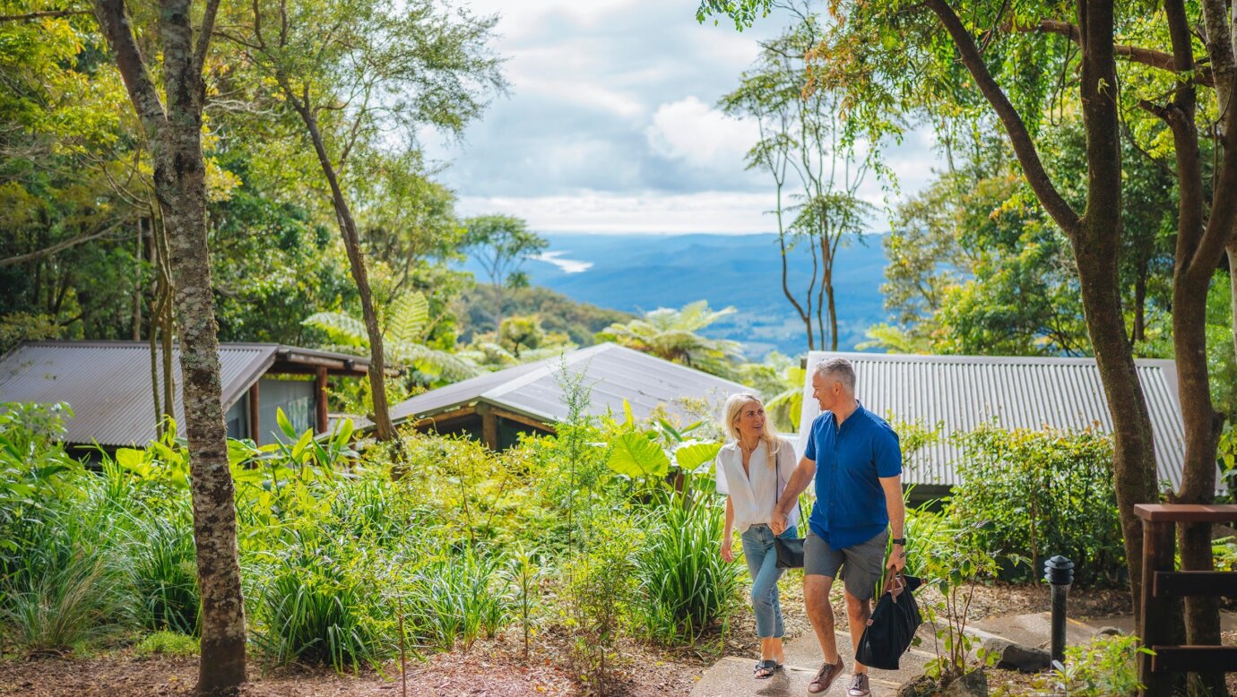
[[[846,629],[841,589],[835,589],[837,629]],[[782,607],[787,639],[810,633],[803,610],[802,582],[792,575],[782,583]],[[970,607],[972,619],[1043,612],[1049,609],[1043,586],[977,586]],[[1119,591],[1075,591],[1070,614],[1079,618],[1129,612],[1129,598]],[[1226,635],[1237,644],[1237,636]],[[606,695],[659,697],[687,695],[717,659],[725,655],[756,656],[758,643],[751,612],[740,609],[727,628],[705,633],[693,646],[667,649],[643,641],[625,640],[616,662],[610,666]],[[381,671],[336,675],[327,669],[306,666],[266,667],[255,657],[245,697],[402,697],[400,669],[395,662]],[[534,639],[526,661],[515,632],[477,641],[469,651],[437,654],[426,662],[409,661],[408,695],[414,697],[515,695],[583,696],[593,692],[588,680],[571,667],[568,638],[547,628]],[[136,657],[129,650],[88,657],[37,657],[0,660],[0,696],[183,696],[197,680],[195,659]],[[1011,695],[1030,695],[1030,677],[1008,671],[991,674],[992,685],[1007,686]],[[1237,675],[1230,676],[1237,693]]]

